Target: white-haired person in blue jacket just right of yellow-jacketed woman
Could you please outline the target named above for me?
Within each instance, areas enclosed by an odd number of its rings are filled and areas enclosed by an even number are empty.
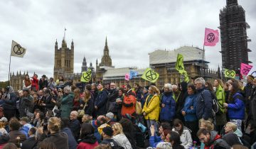
[[[175,116],[175,100],[171,84],[164,84],[164,92],[160,96],[161,112],[160,121],[171,123]]]

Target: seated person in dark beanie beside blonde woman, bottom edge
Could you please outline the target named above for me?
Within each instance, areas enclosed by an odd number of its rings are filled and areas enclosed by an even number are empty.
[[[108,144],[112,149],[120,147],[116,141],[112,139],[114,131],[110,126],[107,126],[102,129],[102,142],[100,144]]]

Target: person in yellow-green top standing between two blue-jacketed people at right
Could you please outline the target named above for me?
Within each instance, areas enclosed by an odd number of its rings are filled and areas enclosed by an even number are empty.
[[[225,123],[227,123],[227,118],[225,114],[225,108],[223,106],[223,103],[225,103],[225,90],[223,89],[223,82],[221,79],[215,79],[214,80],[214,87],[215,90],[215,96],[218,99],[218,112],[216,114],[216,129],[218,133],[222,130],[223,126],[225,126]]]

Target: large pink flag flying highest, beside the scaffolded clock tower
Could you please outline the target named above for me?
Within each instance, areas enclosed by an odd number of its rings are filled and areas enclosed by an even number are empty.
[[[219,33],[218,30],[213,30],[210,28],[206,28],[205,31],[205,40],[203,45],[206,46],[215,46],[218,43]]]

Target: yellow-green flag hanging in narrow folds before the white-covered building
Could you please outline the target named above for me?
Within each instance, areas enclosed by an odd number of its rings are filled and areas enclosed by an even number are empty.
[[[185,68],[184,68],[183,55],[178,54],[177,60],[176,60],[176,64],[175,64],[175,68],[176,68],[176,70],[177,70],[181,75],[183,75],[183,81],[189,82],[188,73],[186,72],[186,70],[185,70]]]

